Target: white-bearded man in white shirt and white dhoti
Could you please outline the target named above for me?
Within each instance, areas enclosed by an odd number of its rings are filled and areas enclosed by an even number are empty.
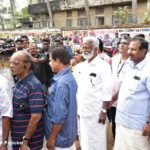
[[[106,150],[106,109],[111,100],[111,68],[97,55],[95,37],[83,39],[86,61],[75,67],[82,150]]]

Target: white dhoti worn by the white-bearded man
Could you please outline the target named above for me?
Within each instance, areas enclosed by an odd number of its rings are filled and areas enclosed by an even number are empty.
[[[105,125],[98,123],[99,116],[80,117],[80,137],[82,150],[107,150]]]

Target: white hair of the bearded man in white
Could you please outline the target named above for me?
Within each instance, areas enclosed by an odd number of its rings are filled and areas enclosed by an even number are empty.
[[[94,36],[86,36],[83,38],[83,43],[91,42],[94,46],[94,48],[99,47],[99,40]]]

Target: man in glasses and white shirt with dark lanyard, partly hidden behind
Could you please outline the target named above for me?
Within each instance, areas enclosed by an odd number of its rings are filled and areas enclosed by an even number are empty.
[[[118,92],[120,88],[120,78],[122,78],[122,75],[124,73],[124,68],[129,63],[128,60],[128,46],[129,46],[129,37],[124,36],[121,38],[119,43],[119,53],[117,53],[115,56],[112,57],[112,79],[113,79],[113,95]],[[113,137],[115,139],[115,115],[116,115],[116,106],[117,103],[113,103],[112,107],[109,109],[109,115],[112,122],[112,133]]]

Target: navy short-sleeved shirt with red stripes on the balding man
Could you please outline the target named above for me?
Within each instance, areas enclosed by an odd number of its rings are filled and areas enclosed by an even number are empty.
[[[11,120],[11,136],[13,149],[18,150],[25,135],[32,113],[42,113],[44,93],[41,83],[33,73],[20,80],[14,88],[13,118]],[[30,149],[40,150],[43,146],[44,130],[42,120],[29,142]]]

